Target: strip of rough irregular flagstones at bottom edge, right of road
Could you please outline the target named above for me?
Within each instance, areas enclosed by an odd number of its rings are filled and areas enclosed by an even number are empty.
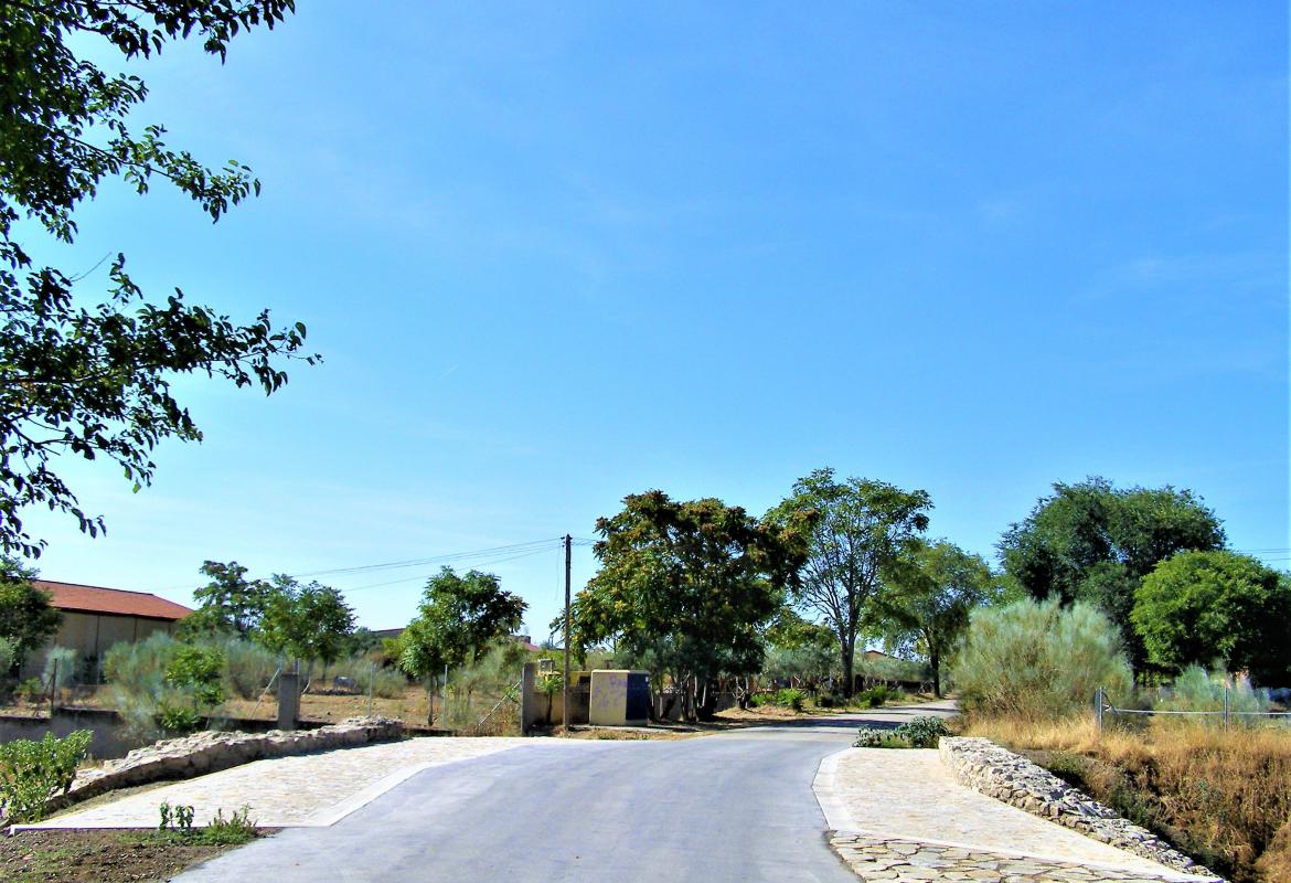
[[[972,847],[946,846],[926,840],[877,837],[839,831],[830,846],[862,880],[883,883],[928,883],[930,880],[972,880],[973,883],[1159,883],[1179,879],[1144,871],[1095,868],[1075,862],[1050,861],[1004,855]]]

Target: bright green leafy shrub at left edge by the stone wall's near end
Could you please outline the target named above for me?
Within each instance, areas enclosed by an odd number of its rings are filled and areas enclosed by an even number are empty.
[[[15,738],[0,745],[0,813],[10,822],[40,821],[49,798],[71,786],[90,735],[77,729],[65,738],[45,733],[39,742]]]

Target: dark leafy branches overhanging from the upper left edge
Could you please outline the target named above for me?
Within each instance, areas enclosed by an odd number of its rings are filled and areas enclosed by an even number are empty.
[[[275,392],[285,360],[305,355],[305,327],[275,327],[269,312],[240,325],[183,293],[148,299],[117,254],[94,303],[79,281],[37,265],[28,236],[72,244],[76,208],[120,178],[137,192],[165,179],[218,221],[259,182],[230,161],[201,165],[169,147],[165,129],[134,128],[147,88],[83,54],[116,50],[136,61],[196,36],[225,58],[230,40],[272,27],[293,0],[14,0],[0,6],[0,551],[36,556],[44,541],[19,511],[48,506],[96,536],[56,471],[61,454],[112,460],[139,489],[151,482],[152,448],[165,438],[201,439],[174,398],[176,374],[204,373]],[[74,288],[76,290],[74,292]]]

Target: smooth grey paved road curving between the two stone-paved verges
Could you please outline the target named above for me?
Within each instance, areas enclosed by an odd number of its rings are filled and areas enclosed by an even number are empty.
[[[176,879],[855,883],[811,782],[860,723],[578,749],[538,738],[426,769],[330,827],[288,829]]]

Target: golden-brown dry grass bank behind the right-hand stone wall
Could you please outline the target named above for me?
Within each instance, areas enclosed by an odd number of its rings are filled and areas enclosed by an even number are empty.
[[[1235,883],[1291,883],[1291,729],[973,720]]]

